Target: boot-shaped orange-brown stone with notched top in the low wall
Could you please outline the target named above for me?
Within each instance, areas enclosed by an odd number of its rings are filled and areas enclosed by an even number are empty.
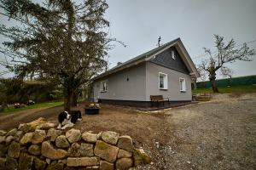
[[[42,143],[41,153],[43,156],[51,160],[62,159],[67,156],[66,150],[60,150],[60,149],[55,150],[53,146],[49,143],[49,141],[44,141]]]

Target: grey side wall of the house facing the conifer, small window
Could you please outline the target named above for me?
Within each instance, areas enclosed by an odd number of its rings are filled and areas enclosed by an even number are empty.
[[[129,78],[129,81],[127,81]],[[108,81],[108,91],[100,92],[101,81]],[[146,100],[146,64],[119,71],[94,82],[94,99]]]

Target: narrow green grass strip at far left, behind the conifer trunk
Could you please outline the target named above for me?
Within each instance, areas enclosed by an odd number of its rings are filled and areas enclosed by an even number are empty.
[[[25,105],[25,107],[15,109],[14,105],[10,106],[9,108],[5,108],[2,113],[13,113],[16,111],[25,111],[28,109],[38,109],[43,107],[55,107],[57,105],[63,105],[63,101],[52,101],[52,102],[45,102],[35,105]]]

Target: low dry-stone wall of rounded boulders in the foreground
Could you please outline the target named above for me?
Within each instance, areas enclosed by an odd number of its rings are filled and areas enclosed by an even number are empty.
[[[130,136],[55,128],[44,118],[0,131],[0,169],[128,169],[150,163]]]

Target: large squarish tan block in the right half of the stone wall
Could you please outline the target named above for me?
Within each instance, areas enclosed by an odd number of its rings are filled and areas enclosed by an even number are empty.
[[[96,156],[101,157],[102,159],[113,162],[116,160],[117,154],[118,154],[119,148],[116,146],[113,146],[111,144],[107,144],[103,142],[102,140],[98,140],[96,142],[96,147],[94,149],[94,154]]]

